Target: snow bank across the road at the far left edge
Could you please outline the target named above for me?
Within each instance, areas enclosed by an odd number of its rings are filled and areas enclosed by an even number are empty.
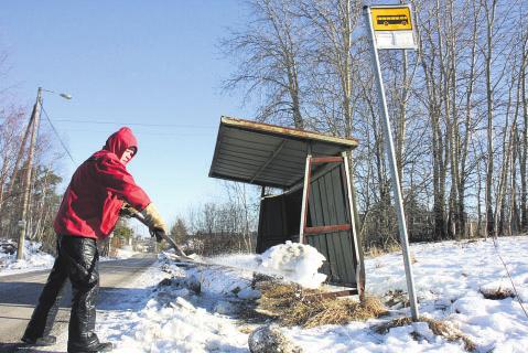
[[[17,247],[13,240],[2,240],[2,244]],[[17,260],[17,253],[9,254],[0,250],[0,276],[14,275],[36,269],[47,269],[53,266],[55,258],[41,250],[39,242],[24,242],[24,258]]]

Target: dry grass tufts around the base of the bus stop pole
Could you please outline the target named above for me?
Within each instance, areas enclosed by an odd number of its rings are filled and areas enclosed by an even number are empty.
[[[438,321],[429,318],[420,318],[420,321],[427,322],[429,325],[429,329],[435,334],[435,335],[441,335],[449,342],[454,342],[454,341],[462,341],[464,343],[464,349],[467,352],[473,352],[476,350],[476,344],[465,334],[463,334],[460,330],[453,328],[449,322],[445,321]],[[399,328],[399,327],[405,327],[409,325],[412,323],[411,318],[398,318],[395,319],[390,322],[379,324],[374,328],[374,331],[376,331],[379,334],[385,334],[389,332],[390,329],[392,328]],[[413,331],[411,335],[414,339],[420,338],[421,335]]]

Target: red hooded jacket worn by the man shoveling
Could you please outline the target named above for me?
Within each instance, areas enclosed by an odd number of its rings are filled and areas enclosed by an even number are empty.
[[[114,231],[123,201],[138,211],[150,204],[147,193],[120,162],[130,147],[138,152],[132,131],[121,128],[108,138],[103,150],[77,168],[55,217],[57,234],[103,239]]]

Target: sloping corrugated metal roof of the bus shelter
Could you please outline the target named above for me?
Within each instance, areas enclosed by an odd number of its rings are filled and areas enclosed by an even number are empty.
[[[289,189],[304,178],[310,146],[313,157],[340,156],[357,140],[222,117],[209,176]]]

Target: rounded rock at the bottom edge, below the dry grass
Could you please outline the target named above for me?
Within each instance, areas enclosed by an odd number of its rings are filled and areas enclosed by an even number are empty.
[[[301,353],[302,349],[291,342],[276,324],[260,327],[249,335],[251,353]]]

